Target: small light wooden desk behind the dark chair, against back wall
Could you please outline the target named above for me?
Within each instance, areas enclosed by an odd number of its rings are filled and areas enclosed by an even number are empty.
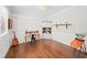
[[[32,37],[32,34],[35,36],[36,40],[40,39],[40,33],[39,31],[25,31],[25,42],[28,42],[28,37]]]

